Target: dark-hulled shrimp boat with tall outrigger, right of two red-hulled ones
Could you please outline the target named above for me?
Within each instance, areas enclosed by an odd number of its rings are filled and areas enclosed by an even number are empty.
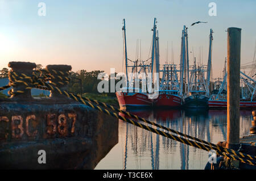
[[[209,35],[209,54],[207,68],[204,65],[196,66],[196,58],[191,70],[191,77],[188,83],[188,95],[185,97],[185,107],[207,108],[209,100],[210,71],[212,68],[212,29]],[[205,80],[205,72],[207,79]]]

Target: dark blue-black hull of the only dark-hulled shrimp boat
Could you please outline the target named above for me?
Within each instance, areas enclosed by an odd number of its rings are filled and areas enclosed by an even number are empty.
[[[209,98],[205,95],[191,95],[185,98],[184,106],[187,108],[207,108]]]

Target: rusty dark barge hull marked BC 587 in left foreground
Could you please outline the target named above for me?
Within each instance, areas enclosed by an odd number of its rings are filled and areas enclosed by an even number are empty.
[[[94,169],[117,142],[118,120],[83,104],[0,102],[0,169]]]

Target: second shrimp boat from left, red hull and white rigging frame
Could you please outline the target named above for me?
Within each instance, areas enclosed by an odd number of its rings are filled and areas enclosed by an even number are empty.
[[[179,94],[179,82],[177,79],[176,65],[163,65],[162,81],[160,83],[158,98],[154,100],[155,107],[179,107],[182,98]]]

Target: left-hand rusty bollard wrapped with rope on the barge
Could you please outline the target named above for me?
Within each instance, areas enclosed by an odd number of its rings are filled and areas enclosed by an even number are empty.
[[[28,77],[32,77],[32,71],[34,68],[36,68],[36,64],[31,63],[31,62],[9,62],[8,66],[9,66],[9,68],[11,68],[11,70],[9,71],[10,84],[15,82],[15,79],[14,79],[12,73],[16,73],[18,75],[26,74]],[[27,86],[24,85],[23,83],[16,82],[15,85],[12,85],[12,86],[13,86],[14,92],[24,91],[24,93],[18,94],[18,95],[12,95],[11,98],[25,99],[25,100],[32,99],[31,90],[25,89]]]

